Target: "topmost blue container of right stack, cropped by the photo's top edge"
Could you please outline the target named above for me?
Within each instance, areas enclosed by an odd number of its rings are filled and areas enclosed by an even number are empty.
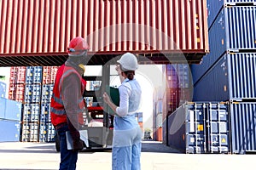
[[[211,27],[221,8],[227,6],[253,6],[255,0],[207,0],[208,26]]]

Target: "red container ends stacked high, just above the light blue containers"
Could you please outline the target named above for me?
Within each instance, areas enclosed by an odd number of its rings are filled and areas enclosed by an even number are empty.
[[[10,68],[9,77],[9,99],[24,102],[26,81],[26,66],[15,66]]]

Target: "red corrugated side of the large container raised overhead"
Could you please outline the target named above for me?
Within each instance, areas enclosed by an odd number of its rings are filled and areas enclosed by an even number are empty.
[[[65,55],[68,42],[76,36],[87,37],[90,52],[97,54],[208,51],[206,0],[0,3],[0,54],[4,55]]]

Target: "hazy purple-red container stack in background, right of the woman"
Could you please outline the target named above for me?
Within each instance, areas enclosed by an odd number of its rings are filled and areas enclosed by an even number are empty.
[[[188,64],[163,65],[163,72],[166,77],[166,99],[163,99],[162,133],[163,142],[167,141],[168,116],[173,111],[183,105],[186,101],[191,101],[192,97],[192,77]]]

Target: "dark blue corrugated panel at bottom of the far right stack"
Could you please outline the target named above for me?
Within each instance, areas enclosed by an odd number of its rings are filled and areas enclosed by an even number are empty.
[[[232,153],[256,151],[256,103],[230,104]]]

